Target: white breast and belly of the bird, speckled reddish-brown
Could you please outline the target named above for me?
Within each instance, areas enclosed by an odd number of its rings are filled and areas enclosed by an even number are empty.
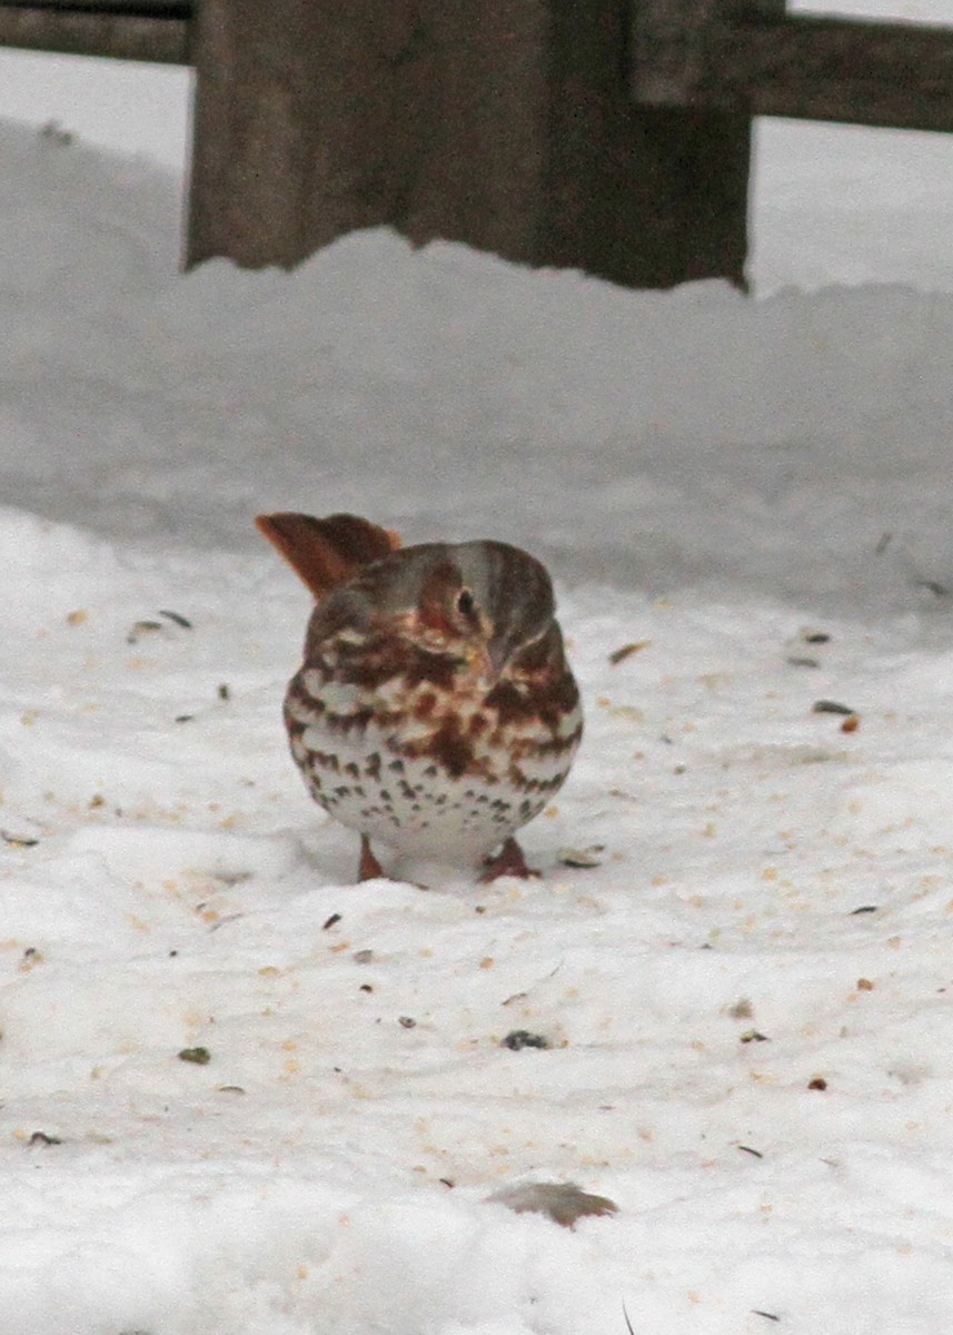
[[[566,778],[582,733],[571,685],[541,716],[513,686],[367,690],[303,668],[284,714],[291,753],[331,816],[408,856],[475,862]]]

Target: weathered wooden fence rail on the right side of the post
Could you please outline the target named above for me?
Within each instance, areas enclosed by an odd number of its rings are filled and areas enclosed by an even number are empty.
[[[678,3],[702,11],[687,43],[670,0],[639,0],[637,101],[953,131],[953,28],[806,15],[730,21],[718,0]]]

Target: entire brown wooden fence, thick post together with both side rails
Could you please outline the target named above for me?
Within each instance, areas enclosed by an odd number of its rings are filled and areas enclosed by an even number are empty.
[[[187,262],[390,223],[743,283],[751,117],[953,129],[953,27],[783,0],[0,0],[0,45],[196,69]]]

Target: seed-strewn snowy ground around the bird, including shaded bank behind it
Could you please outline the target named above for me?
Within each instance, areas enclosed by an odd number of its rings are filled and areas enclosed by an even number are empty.
[[[0,128],[0,1331],[946,1330],[953,294],[182,278],[178,198]],[[352,884],[284,507],[547,561],[542,880]]]

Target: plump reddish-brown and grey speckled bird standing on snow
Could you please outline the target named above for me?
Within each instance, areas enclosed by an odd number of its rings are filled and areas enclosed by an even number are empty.
[[[402,856],[530,876],[514,832],[569,773],[579,692],[543,566],[505,542],[398,538],[355,515],[259,515],[318,599],[284,721],[311,796]],[[495,852],[495,856],[490,856]]]

